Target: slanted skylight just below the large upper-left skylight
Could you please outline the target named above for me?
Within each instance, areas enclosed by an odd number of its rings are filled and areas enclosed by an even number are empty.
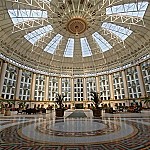
[[[28,33],[24,37],[32,44],[36,43],[37,40],[39,40],[42,36],[44,36],[46,33],[52,31],[53,28],[51,25],[44,26],[42,28],[39,28],[35,31],[32,31],[31,33]]]

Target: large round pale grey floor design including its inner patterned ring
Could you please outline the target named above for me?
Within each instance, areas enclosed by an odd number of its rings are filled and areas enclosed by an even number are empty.
[[[65,123],[64,123],[65,122]],[[76,124],[81,124],[80,120],[59,120],[58,122],[47,122],[46,120],[43,122],[37,122],[36,124],[29,124],[19,130],[19,136],[24,139],[39,142],[39,143],[52,143],[52,144],[89,144],[89,143],[105,143],[117,141],[118,139],[128,138],[129,136],[133,136],[137,133],[137,129],[133,126],[123,123],[121,121],[112,121],[112,120],[103,120],[93,119],[91,124],[93,126],[96,125],[96,128],[93,131],[81,132],[81,129],[75,132],[66,132],[67,127],[70,123],[76,122]],[[89,120],[82,120],[83,124],[89,123]],[[68,123],[68,125],[66,125]],[[50,124],[56,124],[56,128],[50,128]],[[58,127],[59,125],[64,127],[62,130]],[[101,127],[98,128],[98,125]],[[83,126],[81,127],[83,128]],[[56,131],[56,129],[59,129]],[[64,130],[64,131],[63,131]]]

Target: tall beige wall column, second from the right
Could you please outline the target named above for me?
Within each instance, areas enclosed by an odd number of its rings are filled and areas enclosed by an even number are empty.
[[[125,74],[124,70],[122,70],[121,73],[122,73],[122,79],[123,79],[125,99],[128,99],[129,98],[129,93],[128,93],[126,74]]]

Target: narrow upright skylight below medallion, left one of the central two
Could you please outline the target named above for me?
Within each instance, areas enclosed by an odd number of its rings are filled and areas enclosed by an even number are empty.
[[[69,38],[65,48],[64,56],[73,57],[73,50],[74,50],[74,39]]]

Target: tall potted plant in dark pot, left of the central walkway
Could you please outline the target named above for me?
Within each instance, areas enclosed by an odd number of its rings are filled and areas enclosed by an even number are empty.
[[[64,105],[63,105],[63,100],[64,100],[64,97],[63,95],[61,94],[56,94],[56,103],[57,105],[59,106],[57,109],[56,109],[56,117],[63,117],[64,116]]]

